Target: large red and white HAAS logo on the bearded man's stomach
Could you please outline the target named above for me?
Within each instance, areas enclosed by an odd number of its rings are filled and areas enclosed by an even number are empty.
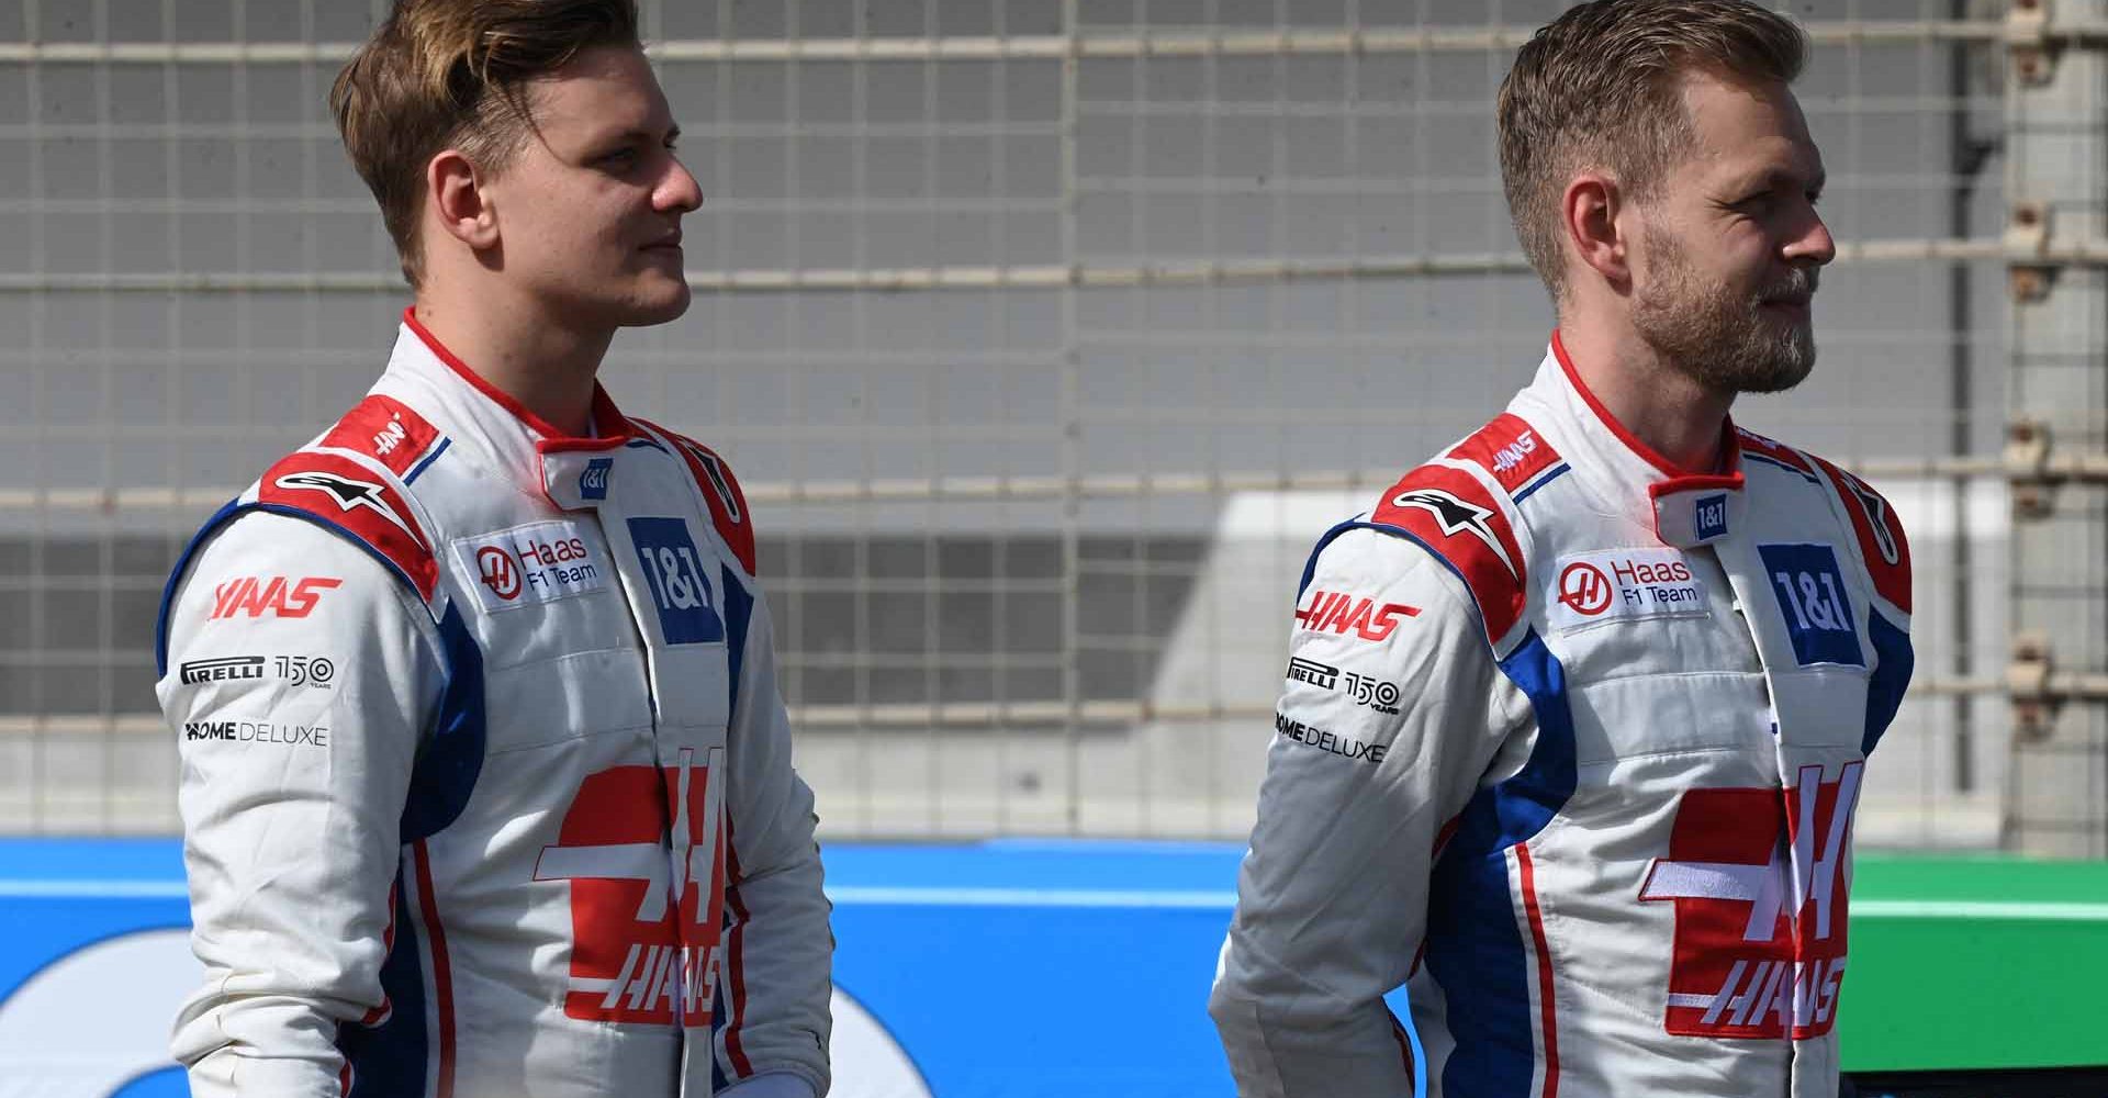
[[[1697,788],[1640,900],[1676,902],[1665,1026],[1684,1037],[1830,1033],[1844,980],[1844,889],[1863,763],[1836,782]]]

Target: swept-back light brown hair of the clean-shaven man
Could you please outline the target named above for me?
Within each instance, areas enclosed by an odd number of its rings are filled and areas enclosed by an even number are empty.
[[[344,150],[417,285],[424,169],[460,150],[504,171],[533,129],[527,82],[594,46],[637,46],[635,0],[396,0],[329,89]]]

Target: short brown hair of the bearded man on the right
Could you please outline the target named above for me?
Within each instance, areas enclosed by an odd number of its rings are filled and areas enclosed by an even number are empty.
[[[1689,152],[1682,78],[1710,72],[1792,84],[1807,36],[1748,0],[1594,0],[1541,27],[1501,80],[1501,185],[1522,253],[1566,293],[1560,204],[1581,169],[1608,169],[1636,200]]]

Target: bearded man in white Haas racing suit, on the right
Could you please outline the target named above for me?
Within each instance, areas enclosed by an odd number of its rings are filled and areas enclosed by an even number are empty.
[[[1516,57],[1501,175],[1558,329],[1303,573],[1210,999],[1240,1094],[1838,1092],[1910,548],[1729,419],[1815,362],[1804,48],[1743,0],[1598,0]]]

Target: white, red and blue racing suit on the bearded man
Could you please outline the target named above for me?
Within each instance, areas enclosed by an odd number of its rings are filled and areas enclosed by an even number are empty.
[[[1303,575],[1210,1012],[1244,1096],[1838,1090],[1851,822],[1910,550],[1729,428],[1674,470],[1554,335]]]

